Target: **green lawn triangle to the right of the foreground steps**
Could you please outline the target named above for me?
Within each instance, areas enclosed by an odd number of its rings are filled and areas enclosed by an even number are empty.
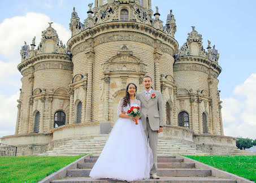
[[[256,181],[256,156],[186,156],[237,176]]]

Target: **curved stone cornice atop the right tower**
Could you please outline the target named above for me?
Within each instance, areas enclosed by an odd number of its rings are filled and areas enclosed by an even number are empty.
[[[193,61],[196,63],[204,63],[207,66],[210,66],[211,68],[214,68],[216,71],[218,71],[218,74],[222,72],[222,68],[217,63],[212,62],[207,58],[203,58],[202,56],[179,56],[177,57],[177,61],[175,63],[185,63],[183,61]]]

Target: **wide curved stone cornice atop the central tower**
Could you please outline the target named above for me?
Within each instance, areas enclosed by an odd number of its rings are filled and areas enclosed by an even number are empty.
[[[76,36],[73,36],[68,40],[68,49],[71,50],[73,46],[80,43],[83,40],[88,40],[88,38],[94,38],[98,36],[101,33],[106,33],[111,31],[134,31],[138,33],[145,32],[147,36],[151,36],[155,40],[158,39],[160,41],[166,42],[171,44],[174,47],[174,52],[176,53],[177,49],[179,48],[178,42],[172,38],[171,36],[168,36],[166,33],[155,29],[149,25],[137,23],[137,22],[131,22],[131,21],[114,21],[110,23],[103,23],[99,24],[93,28],[85,29],[84,31],[80,32]]]

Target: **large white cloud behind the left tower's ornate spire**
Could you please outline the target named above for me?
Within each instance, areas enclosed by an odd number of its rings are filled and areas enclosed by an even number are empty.
[[[29,12],[25,16],[14,16],[5,19],[0,24],[0,53],[8,59],[20,60],[20,49],[26,41],[29,45],[36,36],[36,45],[41,41],[41,34],[51,22],[49,16],[36,12]],[[66,43],[71,37],[70,31],[63,25],[54,23],[52,27],[57,31],[59,39]]]

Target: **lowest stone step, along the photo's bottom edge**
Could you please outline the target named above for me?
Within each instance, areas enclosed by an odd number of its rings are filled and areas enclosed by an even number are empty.
[[[112,183],[119,183],[124,181],[119,180],[109,180],[109,179],[98,179],[94,180],[90,177],[66,177],[61,180],[54,180],[51,182],[67,182],[67,183],[98,183],[98,182],[112,182]],[[160,179],[147,179],[147,180],[139,180],[133,181],[133,183],[236,183],[236,180],[231,180],[228,178],[217,178],[217,177],[160,177]]]

